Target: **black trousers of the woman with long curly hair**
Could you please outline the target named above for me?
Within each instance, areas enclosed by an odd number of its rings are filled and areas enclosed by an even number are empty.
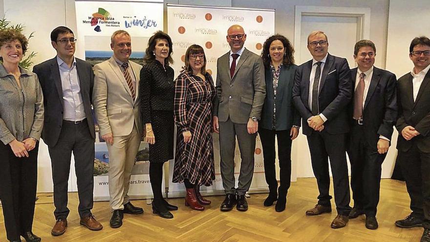
[[[286,197],[288,188],[290,188],[291,180],[291,136],[290,130],[266,130],[258,129],[260,135],[261,146],[263,148],[264,157],[264,175],[267,185],[269,185],[269,194]],[[280,187],[276,180],[275,169],[275,136],[278,139],[278,159],[279,159],[279,177]],[[277,192],[278,189],[278,192]]]

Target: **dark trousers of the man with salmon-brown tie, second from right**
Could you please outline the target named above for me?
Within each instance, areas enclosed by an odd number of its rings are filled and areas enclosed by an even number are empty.
[[[375,136],[379,134],[375,133]],[[381,166],[387,153],[379,154],[376,144],[371,147],[366,140],[365,128],[357,124],[350,132],[348,156],[354,207],[364,210],[366,216],[375,217],[379,203]]]

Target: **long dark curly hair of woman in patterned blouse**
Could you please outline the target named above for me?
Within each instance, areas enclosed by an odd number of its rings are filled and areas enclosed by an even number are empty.
[[[284,57],[282,60],[283,65],[293,65],[294,64],[294,48],[290,41],[283,35],[276,34],[272,35],[263,44],[263,50],[261,51],[261,59],[263,59],[264,66],[269,67],[272,61],[269,55],[269,48],[272,42],[279,40],[284,46]]]

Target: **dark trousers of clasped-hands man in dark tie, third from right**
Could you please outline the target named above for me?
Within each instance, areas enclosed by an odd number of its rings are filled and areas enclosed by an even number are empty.
[[[345,137],[344,133],[329,134],[325,131],[314,131],[307,135],[307,141],[311,153],[312,170],[315,178],[317,178],[318,190],[320,191],[318,204],[330,206],[330,174],[328,170],[328,158],[330,158],[336,209],[338,214],[348,216],[351,207],[349,206]]]

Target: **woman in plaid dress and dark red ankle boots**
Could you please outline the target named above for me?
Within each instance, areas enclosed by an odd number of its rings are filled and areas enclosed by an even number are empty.
[[[205,67],[203,48],[191,45],[185,53],[185,68],[176,79],[174,98],[178,129],[172,181],[185,183],[185,205],[195,210],[211,204],[200,195],[200,186],[210,186],[215,179],[211,113],[216,91]]]

